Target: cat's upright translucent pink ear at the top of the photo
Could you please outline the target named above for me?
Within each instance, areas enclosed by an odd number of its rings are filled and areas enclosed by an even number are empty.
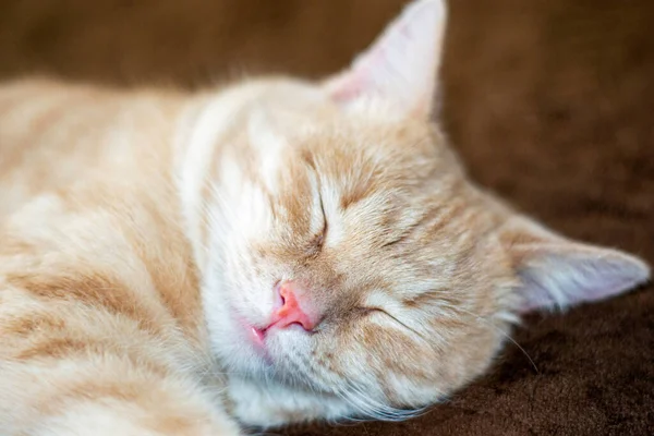
[[[388,101],[402,116],[429,117],[446,17],[443,0],[410,3],[349,69],[328,78],[324,86],[342,106],[374,97]]]

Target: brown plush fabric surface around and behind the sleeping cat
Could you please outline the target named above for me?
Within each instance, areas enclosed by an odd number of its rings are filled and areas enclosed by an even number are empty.
[[[344,65],[401,0],[3,0],[0,76],[201,85]],[[654,262],[654,2],[451,0],[444,122],[472,175]],[[307,435],[646,435],[654,292],[526,319],[494,371],[399,424]],[[529,354],[535,363],[534,370]]]

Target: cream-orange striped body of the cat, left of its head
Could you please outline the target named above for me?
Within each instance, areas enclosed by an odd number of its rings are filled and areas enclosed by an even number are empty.
[[[213,434],[184,427],[220,409],[194,379],[215,368],[172,181],[181,100],[147,94],[0,90],[2,434]]]

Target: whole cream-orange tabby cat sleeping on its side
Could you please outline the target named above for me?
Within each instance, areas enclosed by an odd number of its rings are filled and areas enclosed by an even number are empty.
[[[408,417],[522,313],[645,281],[467,178],[431,122],[445,23],[419,0],[320,83],[2,85],[0,434]]]

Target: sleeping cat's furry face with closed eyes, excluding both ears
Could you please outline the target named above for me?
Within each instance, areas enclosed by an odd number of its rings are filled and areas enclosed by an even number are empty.
[[[257,104],[296,104],[303,90],[269,84]],[[226,169],[221,183],[240,189],[221,194],[216,209],[228,211],[215,215],[221,358],[354,402],[363,392],[370,404],[434,401],[502,339],[513,271],[488,238],[498,219],[426,120],[314,105],[293,113],[308,129],[259,123]],[[287,281],[315,326],[263,331]]]

